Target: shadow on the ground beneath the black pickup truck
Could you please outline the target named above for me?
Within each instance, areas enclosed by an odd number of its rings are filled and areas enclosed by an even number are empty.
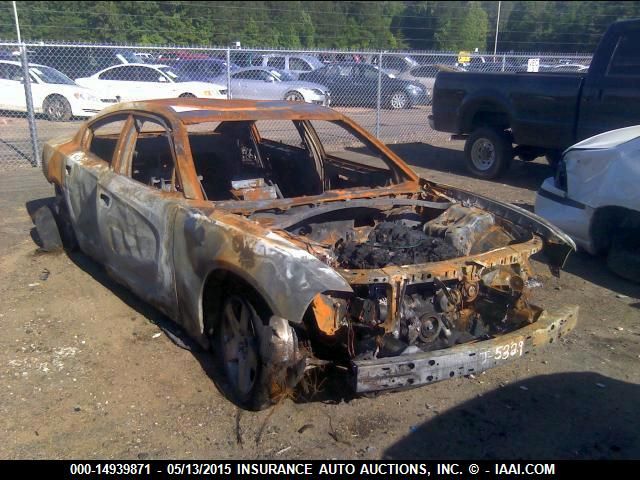
[[[389,144],[388,147],[413,167],[438,170],[478,180],[467,171],[462,150],[438,147],[428,143],[398,143]],[[504,176],[493,181],[513,187],[538,190],[544,179],[552,175],[553,169],[544,162],[522,162],[514,159],[511,168]]]

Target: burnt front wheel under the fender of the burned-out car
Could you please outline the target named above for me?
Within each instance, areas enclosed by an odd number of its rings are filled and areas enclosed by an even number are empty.
[[[254,303],[239,291],[223,296],[214,345],[231,399],[242,408],[263,410],[272,403],[271,386],[264,378],[258,335],[265,321]]]

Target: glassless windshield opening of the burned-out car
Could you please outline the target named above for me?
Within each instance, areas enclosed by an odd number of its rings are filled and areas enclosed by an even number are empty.
[[[227,121],[188,128],[206,198],[266,200],[375,188],[406,177],[343,122]]]

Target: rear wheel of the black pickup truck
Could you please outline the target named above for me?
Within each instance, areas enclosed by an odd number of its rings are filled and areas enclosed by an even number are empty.
[[[476,177],[496,178],[513,160],[511,138],[505,132],[479,128],[467,138],[464,146],[467,169]]]

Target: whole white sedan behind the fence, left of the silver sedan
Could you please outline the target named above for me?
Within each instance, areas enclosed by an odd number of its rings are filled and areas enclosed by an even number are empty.
[[[168,65],[115,65],[76,82],[122,102],[175,97],[227,98],[226,86],[191,81]]]

